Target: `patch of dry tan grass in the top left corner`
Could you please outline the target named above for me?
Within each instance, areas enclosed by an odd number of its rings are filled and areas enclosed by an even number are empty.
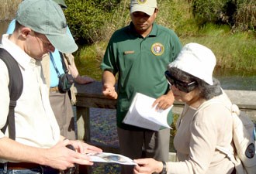
[[[14,19],[20,2],[22,0],[1,0],[0,21]]]

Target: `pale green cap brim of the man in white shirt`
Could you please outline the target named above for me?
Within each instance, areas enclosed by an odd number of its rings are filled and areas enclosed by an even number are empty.
[[[61,53],[74,53],[78,50],[77,44],[73,37],[66,33],[64,35],[46,35],[50,43]]]

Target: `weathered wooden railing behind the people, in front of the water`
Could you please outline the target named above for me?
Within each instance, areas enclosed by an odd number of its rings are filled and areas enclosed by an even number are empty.
[[[93,115],[90,115],[89,108],[116,109],[116,100],[102,95],[102,84],[99,81],[86,85],[75,84],[75,87],[77,88],[78,139],[97,145],[105,152],[119,152],[118,147],[92,143],[90,135],[90,117]],[[241,110],[247,112],[253,121],[256,121],[256,91],[225,90],[225,92],[234,104],[237,104]],[[180,102],[175,102],[173,112],[181,114],[183,105]]]

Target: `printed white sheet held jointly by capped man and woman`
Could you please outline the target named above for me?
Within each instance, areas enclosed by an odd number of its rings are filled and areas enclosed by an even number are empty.
[[[122,165],[137,165],[132,159],[115,153],[92,152],[87,154],[92,162],[114,162]]]

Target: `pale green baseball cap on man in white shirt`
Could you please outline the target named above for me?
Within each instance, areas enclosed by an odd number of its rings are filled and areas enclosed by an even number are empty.
[[[52,0],[26,0],[19,4],[16,20],[39,32],[61,53],[73,53],[78,49],[67,32],[67,22],[60,5]]]

